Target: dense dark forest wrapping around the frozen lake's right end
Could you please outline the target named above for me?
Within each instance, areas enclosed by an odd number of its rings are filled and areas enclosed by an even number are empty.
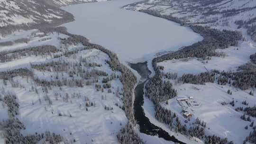
[[[190,26],[192,30],[199,33],[204,39],[190,46],[185,46],[174,53],[164,54],[156,57],[155,62],[165,60],[197,57],[207,59],[209,56],[225,56],[224,53],[215,52],[216,49],[224,49],[229,46],[236,46],[242,35],[235,31],[217,30],[210,27]]]

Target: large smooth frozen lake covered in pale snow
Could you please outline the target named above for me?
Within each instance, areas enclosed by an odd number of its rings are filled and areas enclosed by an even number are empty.
[[[128,62],[149,60],[155,53],[178,50],[202,40],[188,27],[142,12],[121,9],[138,0],[111,0],[77,4],[63,9],[75,21],[64,24],[68,31],[105,46]]]

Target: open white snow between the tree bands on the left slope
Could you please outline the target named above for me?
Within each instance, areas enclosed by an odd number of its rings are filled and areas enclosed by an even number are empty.
[[[29,32],[19,33],[19,37],[24,37],[22,35],[27,36]],[[35,36],[27,44],[14,45],[10,49],[24,49],[35,45],[52,44],[64,52],[64,45],[61,44],[60,38],[67,36],[57,35],[56,33],[47,34],[47,36],[51,37],[47,42],[38,42],[43,37]],[[68,50],[81,46],[68,45]],[[102,65],[100,67],[87,67],[88,72],[99,70],[106,72],[109,76],[111,74],[121,75],[120,72],[112,71],[109,64],[105,62],[110,60],[109,56],[96,49],[82,50],[78,54],[59,58],[53,58],[53,56],[49,55],[23,56],[18,60],[0,63],[0,70],[6,71],[23,67],[31,69],[30,63],[39,64],[59,60],[65,60],[68,63],[79,63],[81,59],[86,59],[87,63]],[[66,72],[31,70],[34,72],[35,77],[47,81],[55,80],[57,79],[56,77],[70,80],[81,79],[79,77],[71,78]],[[103,76],[99,76],[98,79],[99,82],[97,83],[102,85]],[[23,135],[51,131],[64,136],[70,141],[75,140],[76,144],[118,143],[116,135],[128,121],[124,110],[121,109],[123,105],[122,95],[117,95],[118,91],[122,92],[122,83],[118,78],[109,81],[112,92],[109,92],[109,89],[97,91],[95,83],[88,86],[85,85],[82,88],[50,86],[46,90],[45,87],[40,86],[30,77],[17,76],[12,81],[18,83],[19,86],[17,88],[12,87],[9,80],[5,85],[3,80],[0,80],[0,91],[12,91],[17,94],[20,105],[18,118],[26,126],[26,129],[21,131]],[[47,97],[52,101],[52,104],[45,100]],[[1,103],[2,101],[0,101],[0,120],[3,120],[8,118],[8,115],[7,107],[3,107]],[[89,103],[90,106],[86,106],[86,103]],[[93,106],[91,106],[91,103]],[[105,107],[109,107],[110,110],[106,110]],[[59,116],[59,114],[62,116]],[[2,144],[2,141],[3,139],[0,138],[0,144]]]

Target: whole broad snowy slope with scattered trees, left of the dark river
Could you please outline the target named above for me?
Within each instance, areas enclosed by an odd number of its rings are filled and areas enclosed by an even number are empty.
[[[10,117],[11,93],[24,136],[50,131],[75,144],[118,143],[116,135],[128,119],[121,73],[110,68],[108,54],[38,30],[16,33],[0,44],[22,37],[27,41],[0,48],[0,121]]]

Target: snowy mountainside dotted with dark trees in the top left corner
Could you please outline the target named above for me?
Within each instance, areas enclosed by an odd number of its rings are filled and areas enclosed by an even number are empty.
[[[45,0],[0,0],[2,35],[20,28],[56,26],[72,20],[72,14],[47,4]]]

